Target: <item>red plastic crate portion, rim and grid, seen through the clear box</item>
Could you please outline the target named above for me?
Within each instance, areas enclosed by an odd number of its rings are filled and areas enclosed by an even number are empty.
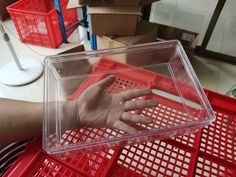
[[[77,91],[75,91],[74,94],[69,97],[69,99],[79,98],[86,88],[88,88],[93,83],[96,83],[105,78],[107,76],[106,73],[108,75],[112,73],[112,75],[114,75],[116,78],[114,83],[106,89],[106,92],[111,94],[137,88],[150,88],[166,91],[179,96],[175,83],[168,76],[137,67],[133,67],[132,69],[131,65],[101,58],[99,62],[93,67],[93,74],[86,78],[86,80],[79,86]],[[179,83],[179,85],[180,84],[182,84],[182,94],[185,96],[185,98],[198,101],[196,94],[191,91],[191,86],[186,83]],[[131,145],[135,143],[153,141],[156,139],[166,139],[169,137],[190,133],[202,127],[202,125],[199,125],[198,123],[197,125],[192,123],[194,120],[201,120],[205,118],[205,113],[198,110],[197,108],[190,106],[188,107],[188,111],[192,116],[192,119],[190,119],[188,117],[189,115],[186,113],[185,107],[178,101],[171,100],[167,97],[161,96],[160,94],[152,94],[151,96],[145,96],[141,99],[156,100],[159,104],[154,108],[135,110],[135,114],[151,117],[153,122],[151,124],[132,124],[132,126],[137,130],[162,129],[162,132],[158,134],[153,133],[145,136],[139,136],[137,138],[129,138],[128,140],[121,139],[120,141],[116,142],[97,143],[96,146],[90,146],[88,148],[90,145],[89,142],[91,140],[99,141],[104,140],[107,137],[118,137],[119,135],[122,136],[124,132],[110,128],[81,128],[78,130],[68,130],[63,133],[60,140],[60,145],[66,147],[68,145],[83,144],[84,146],[80,147],[79,150],[70,150],[69,152],[65,150],[65,153],[60,151],[59,155],[81,155],[82,153],[107,149],[114,146],[121,147],[127,144]],[[178,127],[180,124],[182,124],[181,128]],[[191,124],[192,126],[185,126],[188,124]],[[175,130],[171,129],[175,126]],[[48,137],[48,139],[44,142],[44,149],[48,149],[48,152],[50,152],[51,149],[53,149],[51,147],[53,147],[54,142],[54,136]]]

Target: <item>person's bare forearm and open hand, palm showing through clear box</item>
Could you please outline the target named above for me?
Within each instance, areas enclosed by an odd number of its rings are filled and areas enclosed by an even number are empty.
[[[131,114],[130,111],[155,107],[152,100],[133,99],[151,94],[149,89],[137,89],[117,94],[105,90],[115,81],[107,77],[87,88],[79,99],[65,101],[63,121],[66,129],[82,127],[119,129],[136,133],[128,122],[148,124],[149,117]],[[0,144],[25,140],[42,134],[43,104],[0,98]]]

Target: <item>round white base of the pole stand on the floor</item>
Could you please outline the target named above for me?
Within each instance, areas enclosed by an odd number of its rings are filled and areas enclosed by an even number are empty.
[[[33,82],[43,73],[43,64],[35,59],[20,59],[23,70],[14,61],[0,68],[0,81],[10,86],[20,86]]]

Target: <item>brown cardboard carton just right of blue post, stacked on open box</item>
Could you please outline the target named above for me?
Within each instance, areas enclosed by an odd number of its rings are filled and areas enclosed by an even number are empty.
[[[90,30],[94,35],[134,35],[139,7],[90,7]]]

